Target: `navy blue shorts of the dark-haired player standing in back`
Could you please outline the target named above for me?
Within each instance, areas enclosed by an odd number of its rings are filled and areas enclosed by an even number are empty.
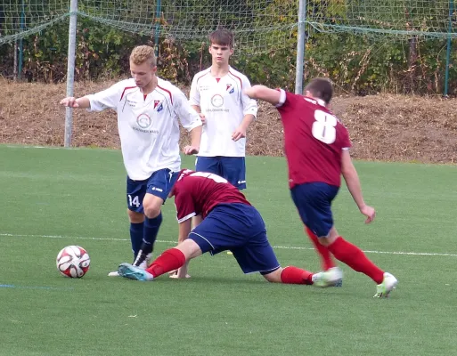
[[[235,188],[246,189],[246,163],[244,157],[202,157],[195,160],[195,171],[224,177]]]

